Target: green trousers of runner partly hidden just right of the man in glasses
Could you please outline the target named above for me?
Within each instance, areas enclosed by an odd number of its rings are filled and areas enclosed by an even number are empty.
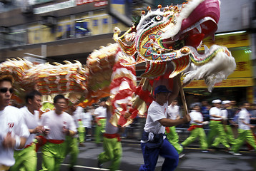
[[[77,138],[66,136],[66,154],[70,155],[70,167],[74,167],[74,165],[77,163],[77,156],[79,154],[79,149],[77,145]]]

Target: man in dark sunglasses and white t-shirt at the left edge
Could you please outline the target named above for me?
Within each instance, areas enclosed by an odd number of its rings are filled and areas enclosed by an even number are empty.
[[[14,148],[23,148],[29,129],[24,124],[18,108],[10,106],[13,78],[0,77],[0,170],[14,165]]]

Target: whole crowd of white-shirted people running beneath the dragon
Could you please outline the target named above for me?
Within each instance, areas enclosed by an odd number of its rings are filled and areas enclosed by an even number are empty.
[[[70,155],[69,170],[74,170],[79,154],[79,146],[86,140],[94,140],[104,151],[97,158],[97,167],[111,161],[109,170],[118,170],[122,160],[120,129],[109,120],[112,105],[101,100],[97,105],[82,108],[68,106],[64,95],[54,97],[54,110],[39,115],[41,93],[32,90],[26,94],[26,104],[22,108],[10,105],[13,78],[0,78],[0,170],[36,170],[36,152],[41,150],[41,170],[59,170],[61,162]],[[202,152],[216,149],[220,143],[232,155],[239,153],[245,140],[256,149],[253,125],[256,120],[256,105],[248,102],[236,107],[230,100],[212,100],[192,103],[189,115],[181,115],[177,93],[165,86],[154,89],[155,100],[149,105],[141,147],[144,165],[139,170],[154,170],[158,155],[164,157],[162,170],[174,170],[183,149],[199,138]],[[189,123],[189,137],[179,142],[175,126]],[[96,128],[93,130],[92,126]],[[209,133],[205,126],[209,125]],[[233,133],[237,128],[237,138]]]

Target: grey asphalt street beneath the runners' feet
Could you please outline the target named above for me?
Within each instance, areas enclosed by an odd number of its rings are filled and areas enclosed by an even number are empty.
[[[79,147],[79,159],[75,170],[108,170],[108,163],[104,164],[104,168],[97,167],[97,155],[102,152],[103,147],[97,147],[94,142],[86,142],[86,147]],[[133,171],[139,170],[139,166],[143,164],[142,152],[139,143],[123,142],[123,157],[119,170]],[[177,171],[252,171],[256,170],[255,152],[241,151],[242,156],[234,156],[224,150],[202,153],[197,147],[187,147],[184,150],[186,154],[181,160]],[[157,170],[161,170],[163,158],[159,157],[157,162]],[[68,170],[69,156],[61,165],[61,170]],[[39,167],[41,169],[41,153],[39,152]]]

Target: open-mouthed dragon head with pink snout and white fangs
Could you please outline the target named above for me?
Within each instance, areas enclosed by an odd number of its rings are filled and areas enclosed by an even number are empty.
[[[172,61],[186,55],[188,51],[182,48],[200,46],[203,38],[213,36],[220,18],[218,0],[191,0],[182,6],[159,5],[155,11],[147,9],[147,14],[142,11],[133,42],[127,45],[119,38],[124,52],[138,53],[137,63]]]

